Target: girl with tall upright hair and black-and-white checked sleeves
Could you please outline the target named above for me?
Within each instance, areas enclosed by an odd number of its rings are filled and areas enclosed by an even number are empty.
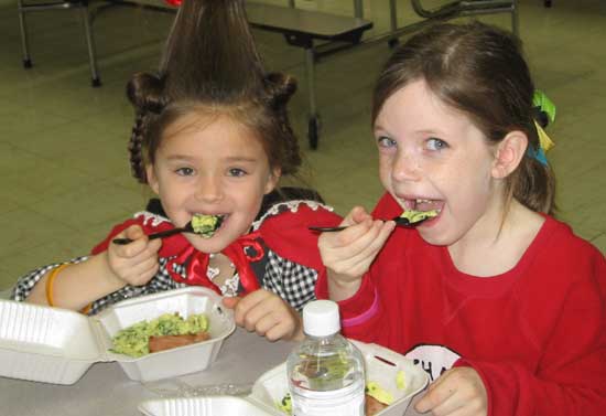
[[[294,79],[264,72],[242,0],[183,1],[159,74],[137,74],[127,87],[136,109],[132,172],[159,199],[90,256],[21,278],[13,297],[96,313],[201,285],[232,297],[224,302],[248,330],[270,340],[302,337],[299,310],[315,298],[321,268],[306,224],[339,217],[315,192],[278,188],[301,164],[286,113],[294,90]],[[197,216],[220,226],[209,237],[148,238]]]

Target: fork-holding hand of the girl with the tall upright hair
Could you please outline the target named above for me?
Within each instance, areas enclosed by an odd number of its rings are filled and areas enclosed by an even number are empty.
[[[109,269],[120,280],[121,286],[145,285],[158,271],[158,250],[162,246],[162,241],[160,238],[150,241],[139,225],[131,225],[117,237],[128,237],[132,243],[109,245],[107,249]]]

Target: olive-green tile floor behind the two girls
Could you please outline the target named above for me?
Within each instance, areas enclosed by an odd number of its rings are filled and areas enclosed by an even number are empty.
[[[285,0],[274,0],[285,3]],[[131,109],[123,86],[156,65],[171,17],[109,9],[94,22],[102,87],[89,86],[77,14],[29,15],[34,67],[21,66],[14,0],[0,0],[0,290],[29,269],[86,253],[109,226],[139,210],[149,193],[129,175]],[[436,4],[437,1],[426,4]],[[297,4],[351,14],[349,0]],[[388,1],[367,0],[375,33],[388,30]],[[559,109],[549,154],[559,175],[560,217],[606,253],[606,3],[522,0],[521,36],[537,85]],[[401,1],[399,21],[419,20]],[[485,21],[509,28],[508,15]],[[317,66],[321,147],[307,150],[301,50],[256,32],[268,68],[300,78],[291,113],[307,160],[307,182],[345,213],[381,193],[369,129],[375,75],[390,51],[375,45]]]

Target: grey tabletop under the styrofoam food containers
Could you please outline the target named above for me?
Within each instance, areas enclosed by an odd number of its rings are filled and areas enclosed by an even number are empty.
[[[201,387],[213,384],[246,385],[285,361],[293,342],[269,342],[241,328],[224,341],[217,360],[203,372],[166,381]],[[137,416],[139,403],[162,398],[163,383],[133,382],[116,362],[96,363],[73,385],[54,385],[0,377],[0,414],[7,416]],[[419,399],[418,395],[413,398]],[[393,412],[389,416],[396,416]],[[418,416],[410,405],[405,416]],[[397,415],[397,416],[404,416]]]

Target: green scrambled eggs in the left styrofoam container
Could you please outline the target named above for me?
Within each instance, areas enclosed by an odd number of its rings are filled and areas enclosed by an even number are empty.
[[[208,327],[205,313],[191,314],[187,319],[178,313],[164,313],[149,322],[137,322],[118,331],[112,338],[113,348],[109,351],[139,358],[150,353],[150,337],[196,334],[208,331]]]

